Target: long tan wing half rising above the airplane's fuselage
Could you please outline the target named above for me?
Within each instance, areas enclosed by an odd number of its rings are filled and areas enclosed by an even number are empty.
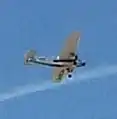
[[[70,53],[76,53],[79,40],[80,33],[73,32],[67,39],[66,44],[59,55],[60,59],[68,58]]]

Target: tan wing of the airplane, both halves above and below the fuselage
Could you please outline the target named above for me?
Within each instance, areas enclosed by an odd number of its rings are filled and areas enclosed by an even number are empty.
[[[80,40],[80,33],[79,32],[72,33],[70,37],[68,38],[64,46],[64,49],[61,51],[59,58],[60,59],[69,58],[70,53],[76,53],[76,48],[77,48],[79,40]],[[70,68],[73,68],[73,67],[70,67]],[[67,74],[68,72],[66,71],[66,67],[62,67],[62,68],[55,67],[53,71],[53,79],[56,81],[57,80],[61,81]]]

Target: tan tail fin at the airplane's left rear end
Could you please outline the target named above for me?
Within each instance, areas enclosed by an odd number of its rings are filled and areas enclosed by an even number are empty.
[[[36,51],[35,50],[29,50],[24,55],[24,64],[29,64],[30,59],[33,60],[36,57]]]

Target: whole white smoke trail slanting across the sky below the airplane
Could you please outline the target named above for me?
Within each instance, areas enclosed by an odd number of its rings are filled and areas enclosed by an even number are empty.
[[[53,89],[55,87],[60,86],[61,84],[68,84],[71,82],[77,82],[77,81],[80,82],[82,80],[103,78],[103,77],[110,76],[116,73],[117,73],[116,65],[103,66],[103,67],[101,66],[101,67],[94,68],[92,70],[87,69],[87,71],[76,73],[72,80],[67,80],[63,83],[52,83],[52,81],[47,81],[42,84],[33,84],[33,85],[17,87],[10,92],[0,94],[0,102],[5,100],[10,100],[12,98],[16,98],[19,96],[27,95],[30,93],[34,93],[37,91],[45,91],[48,89]]]

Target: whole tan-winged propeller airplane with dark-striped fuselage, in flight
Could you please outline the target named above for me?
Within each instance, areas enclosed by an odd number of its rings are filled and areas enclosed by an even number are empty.
[[[64,77],[72,78],[75,68],[86,65],[86,62],[81,60],[76,53],[79,41],[80,33],[71,33],[60,55],[51,59],[45,56],[38,56],[36,51],[31,49],[24,55],[24,64],[39,64],[53,67],[53,80],[57,82],[62,81]]]

